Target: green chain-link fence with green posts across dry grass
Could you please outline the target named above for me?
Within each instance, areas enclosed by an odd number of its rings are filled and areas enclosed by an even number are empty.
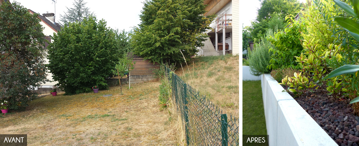
[[[172,102],[185,123],[187,146],[238,146],[238,119],[232,115],[227,117],[206,96],[200,95],[167,67],[165,69]]]

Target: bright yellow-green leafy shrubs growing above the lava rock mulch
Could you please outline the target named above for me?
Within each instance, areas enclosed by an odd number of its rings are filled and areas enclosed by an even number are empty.
[[[302,28],[299,30],[301,38],[299,41],[303,50],[300,55],[295,56],[295,61],[302,74],[309,77],[311,82],[308,82],[307,86],[302,86],[301,89],[291,86],[292,91],[309,91],[308,86],[314,84],[315,89],[327,90],[330,96],[344,98],[344,95],[349,95],[353,98],[358,91],[358,88],[355,88],[358,86],[356,75],[325,78],[329,72],[342,65],[358,64],[357,42],[345,29],[333,21],[334,18],[346,14],[335,5],[334,1],[314,0],[313,5],[308,5],[301,15],[302,17],[299,20],[294,20],[294,23],[300,23],[299,26]],[[349,19],[356,20],[351,17]],[[297,37],[290,31],[285,33],[289,34],[290,38]],[[276,43],[275,39],[271,41]],[[290,52],[282,53],[289,54]]]

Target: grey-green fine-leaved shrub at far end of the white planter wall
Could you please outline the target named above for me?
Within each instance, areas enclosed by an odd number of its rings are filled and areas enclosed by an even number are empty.
[[[266,32],[267,36],[273,35],[273,31],[269,29]],[[261,74],[270,73],[269,65],[272,52],[269,51],[274,46],[267,39],[261,39],[259,43],[256,43],[252,51],[248,52],[248,62],[252,75],[259,76]]]

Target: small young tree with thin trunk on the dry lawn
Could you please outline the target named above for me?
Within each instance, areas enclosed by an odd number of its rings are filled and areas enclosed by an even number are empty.
[[[134,69],[134,63],[132,62],[132,58],[129,59],[127,56],[121,57],[119,61],[116,63],[115,70],[112,70],[113,74],[118,75],[118,83],[120,83],[120,89],[122,93],[122,86],[121,86],[121,78],[125,73],[129,72],[130,70]]]

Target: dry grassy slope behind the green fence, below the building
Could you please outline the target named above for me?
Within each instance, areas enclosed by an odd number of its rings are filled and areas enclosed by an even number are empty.
[[[176,74],[200,94],[206,95],[223,113],[238,118],[239,56],[196,57],[187,63],[188,67],[182,64],[183,71],[178,69]]]

